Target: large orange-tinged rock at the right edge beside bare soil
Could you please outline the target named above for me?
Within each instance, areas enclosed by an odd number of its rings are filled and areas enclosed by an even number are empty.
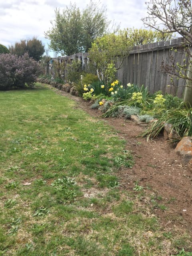
[[[183,157],[184,164],[189,164],[192,161],[192,137],[184,137],[177,144],[175,151]]]

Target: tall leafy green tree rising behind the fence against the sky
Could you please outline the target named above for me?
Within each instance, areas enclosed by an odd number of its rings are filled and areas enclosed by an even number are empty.
[[[90,4],[80,12],[76,4],[70,4],[62,12],[55,10],[52,28],[45,32],[50,39],[50,48],[63,55],[86,52],[98,36],[102,36],[109,25],[106,9],[98,4]]]

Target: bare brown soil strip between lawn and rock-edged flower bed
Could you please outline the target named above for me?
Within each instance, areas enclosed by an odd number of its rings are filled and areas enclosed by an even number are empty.
[[[90,109],[89,103],[82,98],[57,89],[56,92],[77,101],[78,108],[82,108],[91,116],[101,118],[98,110]],[[150,196],[153,193],[161,198],[160,204],[166,206],[164,211],[153,209],[166,230],[183,228],[192,234],[192,173],[182,163],[180,156],[176,155],[174,148],[163,136],[150,142],[147,142],[146,138],[136,137],[144,127],[135,122],[123,118],[104,120],[126,140],[126,148],[131,150],[134,156],[133,168],[122,168],[118,174],[122,189],[133,191],[135,182],[148,188],[145,191],[149,191],[147,193]]]

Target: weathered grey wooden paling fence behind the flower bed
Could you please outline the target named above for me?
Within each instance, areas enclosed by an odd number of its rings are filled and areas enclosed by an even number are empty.
[[[170,86],[170,76],[161,71],[162,60],[164,63],[170,63],[172,55],[175,62],[182,64],[182,60],[186,58],[184,54],[180,54],[172,50],[182,44],[182,38],[169,41],[156,42],[153,44],[144,44],[134,46],[130,51],[130,55],[124,59],[121,68],[117,72],[117,78],[126,87],[126,84],[138,84],[148,87],[150,93],[161,90],[163,94],[168,93],[182,97],[184,92],[185,81],[183,79],[174,79],[174,86]],[[71,56],[53,58],[54,61],[68,62],[72,60],[81,60],[82,68],[86,70],[88,62],[88,53],[78,53]],[[116,65],[122,60],[117,57]],[[187,60],[186,60],[187,62]]]

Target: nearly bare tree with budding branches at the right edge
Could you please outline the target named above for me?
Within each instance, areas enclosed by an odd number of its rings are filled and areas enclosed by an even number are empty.
[[[150,0],[146,4],[148,17],[142,19],[146,26],[158,32],[177,33],[184,38],[183,51],[186,58],[183,64],[172,62],[169,67],[165,66],[172,78],[186,81],[184,102],[192,106],[192,48],[188,47],[192,45],[191,0]]]

